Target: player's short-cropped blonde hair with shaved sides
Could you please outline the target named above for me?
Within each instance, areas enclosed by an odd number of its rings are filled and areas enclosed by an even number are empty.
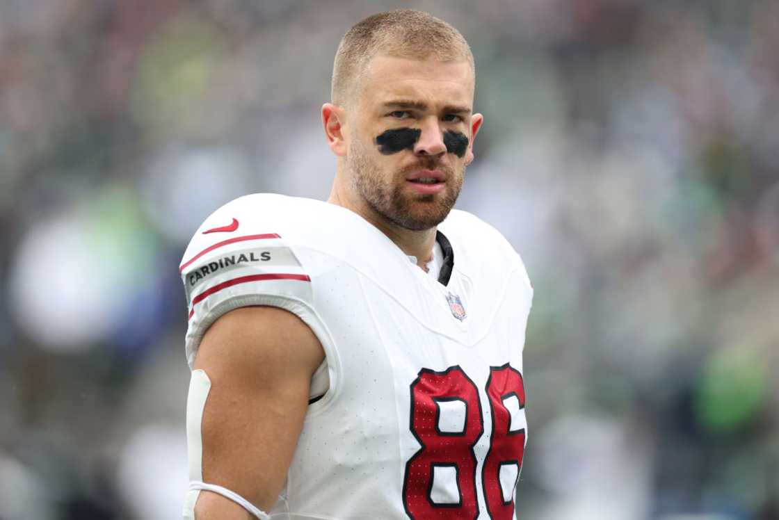
[[[379,12],[358,22],[340,40],[330,90],[333,104],[344,106],[357,99],[358,80],[378,54],[468,61],[475,76],[471,47],[449,23],[414,9]]]

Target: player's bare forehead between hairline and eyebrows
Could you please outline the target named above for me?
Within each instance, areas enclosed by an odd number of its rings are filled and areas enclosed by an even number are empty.
[[[379,55],[372,58],[365,70],[361,98],[370,105],[405,99],[433,106],[471,106],[474,99],[473,71],[468,61]]]

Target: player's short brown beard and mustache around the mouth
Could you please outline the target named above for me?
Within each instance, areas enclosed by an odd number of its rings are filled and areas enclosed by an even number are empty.
[[[428,230],[446,219],[460,195],[465,177],[465,165],[454,170],[430,156],[388,176],[357,142],[349,148],[347,167],[352,188],[375,213],[412,231]],[[406,186],[406,176],[418,170],[441,170],[446,174],[446,188],[435,195],[412,193]]]

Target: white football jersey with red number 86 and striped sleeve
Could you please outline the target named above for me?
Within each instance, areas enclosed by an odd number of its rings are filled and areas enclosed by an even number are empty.
[[[190,367],[213,321],[246,305],[297,314],[326,353],[273,518],[516,518],[533,290],[488,224],[453,210],[439,231],[446,285],[361,216],[310,199],[247,195],[192,238]]]

